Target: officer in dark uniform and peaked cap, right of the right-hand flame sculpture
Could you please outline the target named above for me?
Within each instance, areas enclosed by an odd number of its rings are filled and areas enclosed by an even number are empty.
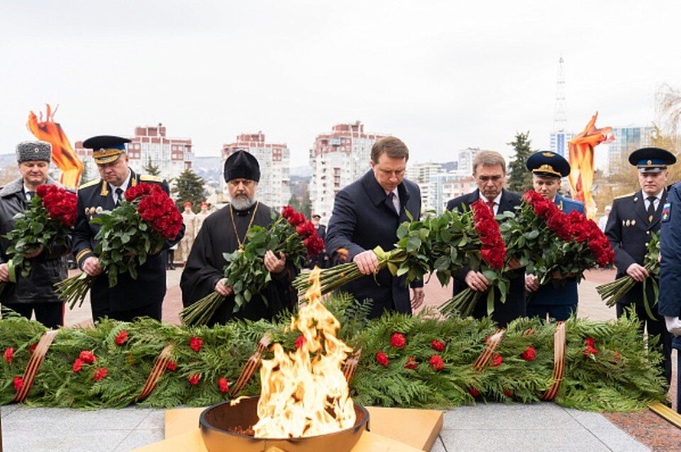
[[[643,266],[643,260],[646,257],[650,235],[660,230],[660,218],[663,216],[668,196],[668,191],[665,190],[668,179],[667,166],[675,162],[674,154],[658,147],[644,147],[632,152],[629,163],[638,169],[638,184],[641,190],[614,200],[605,227],[605,235],[615,251],[616,278],[629,275],[637,281],[636,286],[633,286],[617,303],[617,317],[621,317],[625,307],[633,306],[638,319],[641,320],[641,332],[645,326],[650,337],[659,338],[668,383],[672,371],[671,336],[663,316],[654,309],[655,318],[651,319],[646,313],[643,304],[643,281],[648,278],[648,271]],[[652,305],[655,297],[652,284],[646,285],[646,295]]]

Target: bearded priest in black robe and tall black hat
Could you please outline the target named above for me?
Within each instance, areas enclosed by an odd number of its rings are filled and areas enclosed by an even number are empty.
[[[233,312],[235,300],[232,288],[225,286],[223,269],[227,262],[223,253],[243,249],[251,226],[267,227],[272,223],[272,209],[257,200],[259,180],[260,166],[252,154],[237,151],[227,158],[225,181],[230,203],[206,217],[182,272],[179,286],[184,307],[213,291],[226,297],[209,326],[236,318],[271,319],[281,310],[292,309],[297,301],[297,292],[291,283],[298,269],[284,254],[277,256],[270,250],[264,257],[265,268],[272,274],[272,281],[263,294],[267,303],[259,295],[253,295],[250,302]]]

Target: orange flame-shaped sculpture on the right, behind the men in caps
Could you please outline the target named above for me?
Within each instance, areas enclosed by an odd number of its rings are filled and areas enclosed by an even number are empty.
[[[611,127],[596,128],[598,112],[592,116],[584,130],[570,140],[570,186],[572,198],[585,204],[587,217],[596,215],[596,202],[591,196],[591,185],[594,182],[594,147],[614,140],[608,136]]]

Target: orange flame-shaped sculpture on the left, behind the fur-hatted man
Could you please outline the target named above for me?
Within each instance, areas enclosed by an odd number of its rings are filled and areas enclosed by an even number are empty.
[[[69,139],[66,137],[62,126],[55,123],[55,113],[57,108],[52,111],[50,105],[47,106],[46,120],[43,121],[43,113],[40,113],[40,120],[35,113],[28,113],[28,123],[26,127],[31,130],[38,140],[49,142],[52,145],[52,162],[57,168],[62,170],[60,182],[67,188],[77,188],[80,181],[80,174],[83,172],[83,162],[80,161],[76,152],[71,147]]]

